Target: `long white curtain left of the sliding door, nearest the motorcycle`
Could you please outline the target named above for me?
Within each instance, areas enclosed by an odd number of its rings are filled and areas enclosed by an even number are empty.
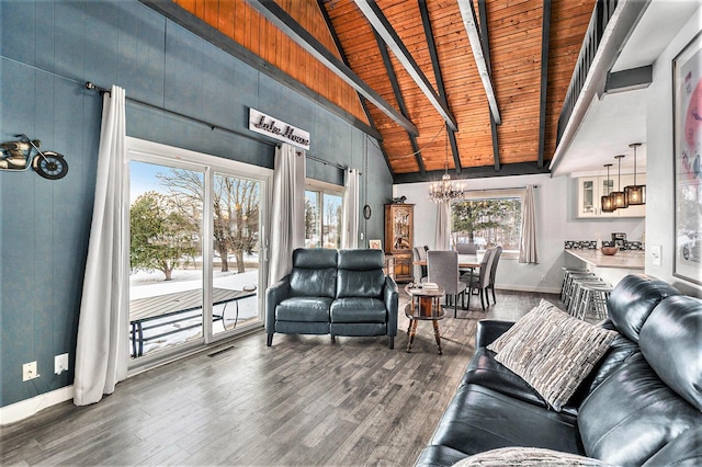
[[[123,172],[126,157],[124,89],[103,95],[95,202],[78,321],[73,403],[112,394],[127,374],[128,307],[122,251],[126,228]]]

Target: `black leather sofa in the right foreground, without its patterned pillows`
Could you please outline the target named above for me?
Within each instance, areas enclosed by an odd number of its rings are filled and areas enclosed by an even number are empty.
[[[630,275],[609,310],[598,326],[619,335],[561,411],[486,349],[512,323],[480,321],[476,354],[416,465],[471,464],[507,446],[622,466],[702,465],[702,300]]]

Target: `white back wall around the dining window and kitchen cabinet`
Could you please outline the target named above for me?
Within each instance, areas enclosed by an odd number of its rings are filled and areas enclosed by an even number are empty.
[[[502,259],[498,267],[498,288],[526,292],[558,293],[563,278],[562,266],[566,261],[565,240],[607,239],[612,231],[623,231],[630,239],[642,237],[644,220],[607,219],[581,220],[575,218],[577,183],[567,176],[542,175],[500,176],[471,179],[468,190],[521,187],[539,185],[535,192],[537,206],[536,234],[539,236],[540,264],[519,264],[516,259]],[[437,206],[429,201],[429,183],[399,184],[393,187],[393,196],[407,196],[415,204],[415,244],[434,247]]]

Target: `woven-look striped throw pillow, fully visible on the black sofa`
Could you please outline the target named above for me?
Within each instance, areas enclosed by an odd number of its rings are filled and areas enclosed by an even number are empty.
[[[487,348],[561,411],[616,335],[542,299]]]

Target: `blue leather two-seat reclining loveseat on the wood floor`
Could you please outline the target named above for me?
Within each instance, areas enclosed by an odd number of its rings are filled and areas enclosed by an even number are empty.
[[[284,334],[397,335],[398,291],[381,250],[293,251],[293,271],[265,291],[267,344]]]

